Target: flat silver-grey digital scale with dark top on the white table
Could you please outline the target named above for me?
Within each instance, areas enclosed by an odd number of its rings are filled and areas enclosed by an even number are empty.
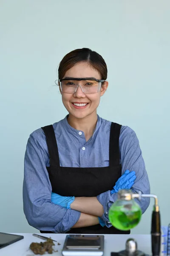
[[[63,256],[102,256],[104,236],[67,235],[62,248]]]

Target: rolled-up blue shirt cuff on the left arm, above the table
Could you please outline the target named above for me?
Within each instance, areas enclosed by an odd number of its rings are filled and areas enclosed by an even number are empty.
[[[74,224],[79,220],[80,214],[81,212],[68,209],[62,220],[54,227],[56,230],[55,233],[66,233],[71,230]]]

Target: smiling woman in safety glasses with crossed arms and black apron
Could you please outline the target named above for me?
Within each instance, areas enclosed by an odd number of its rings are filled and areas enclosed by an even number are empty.
[[[108,88],[105,61],[91,49],[77,49],[62,59],[58,76],[68,116],[28,139],[28,223],[42,233],[130,233],[112,227],[108,210],[119,189],[148,194],[150,185],[135,132],[96,113]],[[150,199],[137,202],[143,213]]]

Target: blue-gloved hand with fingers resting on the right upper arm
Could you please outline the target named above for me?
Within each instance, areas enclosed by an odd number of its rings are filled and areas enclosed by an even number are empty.
[[[125,173],[116,181],[116,185],[111,190],[111,195],[118,192],[120,189],[131,189],[136,179],[135,172],[126,170]]]

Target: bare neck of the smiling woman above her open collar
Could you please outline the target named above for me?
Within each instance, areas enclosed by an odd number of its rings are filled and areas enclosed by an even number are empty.
[[[86,141],[88,141],[94,133],[97,123],[96,111],[89,116],[84,118],[76,118],[69,114],[68,123],[76,130],[83,131],[85,134]]]

